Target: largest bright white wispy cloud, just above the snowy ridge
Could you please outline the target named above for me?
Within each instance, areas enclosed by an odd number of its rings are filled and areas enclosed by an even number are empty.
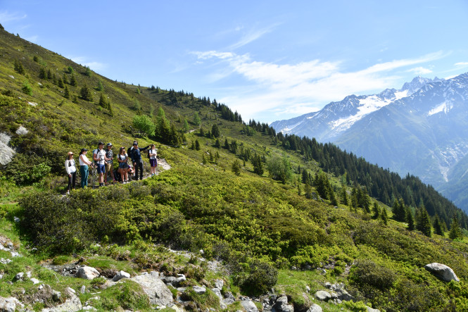
[[[239,87],[220,101],[239,112],[248,112],[251,116],[268,111],[274,112],[279,118],[286,113],[297,115],[317,111],[329,101],[343,99],[349,94],[364,94],[393,87],[400,79],[398,70],[445,56],[443,52],[436,52],[346,72],[341,61],[316,59],[296,64],[277,64],[255,61],[248,54],[238,55],[233,52],[205,51],[194,52],[194,55],[204,63],[216,60],[224,64],[210,73],[210,82],[235,74],[249,81],[250,87]],[[431,72],[424,67],[404,71]]]

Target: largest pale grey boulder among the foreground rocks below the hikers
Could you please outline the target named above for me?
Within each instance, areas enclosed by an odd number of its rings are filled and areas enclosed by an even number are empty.
[[[158,306],[168,306],[172,304],[172,292],[159,278],[158,272],[151,272],[146,274],[137,275],[130,278],[130,280],[137,282],[146,294],[148,294],[151,304]]]

